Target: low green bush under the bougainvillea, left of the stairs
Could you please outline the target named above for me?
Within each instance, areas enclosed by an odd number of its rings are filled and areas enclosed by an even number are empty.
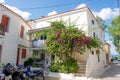
[[[50,70],[52,72],[76,73],[78,70],[77,61],[75,59],[71,59],[69,61],[66,61],[65,63],[53,63],[50,66]]]

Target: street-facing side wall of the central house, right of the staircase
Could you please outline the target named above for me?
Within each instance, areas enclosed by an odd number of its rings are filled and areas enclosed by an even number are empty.
[[[103,30],[99,27],[98,22],[94,18],[94,16],[88,11],[87,14],[87,22],[88,22],[88,32],[89,36],[93,36],[93,33],[96,34],[96,37],[98,37],[104,44],[104,32]],[[92,20],[94,21],[94,24],[92,24]],[[102,45],[101,47],[104,48]],[[91,51],[94,51],[94,54],[92,55],[92,52],[89,51],[89,57],[87,60],[87,76],[99,76],[105,69],[106,65],[106,56],[105,52],[103,49],[98,49],[100,50],[100,61],[98,62],[98,54],[96,53],[96,49],[91,49]]]

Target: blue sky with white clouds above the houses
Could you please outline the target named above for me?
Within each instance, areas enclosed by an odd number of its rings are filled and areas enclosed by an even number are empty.
[[[58,14],[83,6],[88,6],[95,16],[101,17],[108,25],[112,18],[118,15],[117,0],[0,0],[0,3],[25,20]],[[105,34],[105,40],[111,44],[111,53],[116,55],[115,47],[109,38],[110,36]]]

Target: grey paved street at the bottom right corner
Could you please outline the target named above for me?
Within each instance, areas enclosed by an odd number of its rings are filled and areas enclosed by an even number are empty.
[[[120,80],[120,64],[112,64],[111,68],[96,80]]]

